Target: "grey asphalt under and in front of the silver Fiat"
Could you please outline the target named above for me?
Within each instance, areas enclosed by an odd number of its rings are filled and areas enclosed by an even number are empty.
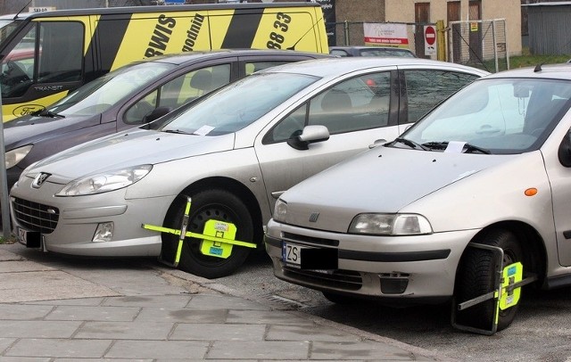
[[[253,255],[235,275],[217,282],[463,361],[571,362],[571,288],[525,291],[514,323],[504,331],[485,336],[454,329],[450,305],[401,309],[373,302],[335,305],[319,292],[278,280],[264,254]]]

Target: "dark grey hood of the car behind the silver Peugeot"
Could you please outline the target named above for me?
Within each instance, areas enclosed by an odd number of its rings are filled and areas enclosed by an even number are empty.
[[[24,144],[34,144],[52,135],[92,127],[101,122],[101,114],[62,118],[25,116],[4,124],[4,145],[12,150]]]

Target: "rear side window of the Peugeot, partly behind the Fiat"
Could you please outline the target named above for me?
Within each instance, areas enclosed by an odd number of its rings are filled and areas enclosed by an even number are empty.
[[[405,123],[416,122],[427,111],[476,80],[476,76],[446,70],[405,70],[408,109]]]

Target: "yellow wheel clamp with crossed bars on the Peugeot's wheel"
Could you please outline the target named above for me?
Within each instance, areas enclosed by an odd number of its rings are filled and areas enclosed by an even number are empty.
[[[236,240],[236,225],[224,221],[219,221],[215,219],[207,220],[204,223],[203,234],[192,233],[186,231],[188,226],[188,215],[190,213],[190,205],[192,200],[190,197],[186,196],[186,208],[185,214],[182,218],[182,225],[180,229],[171,229],[169,227],[154,226],[148,224],[142,224],[141,227],[147,230],[158,231],[160,233],[175,234],[178,235],[178,247],[176,254],[173,258],[173,262],[167,261],[166,256],[162,254],[159,258],[161,262],[169,265],[170,267],[178,267],[178,262],[180,261],[180,254],[182,252],[182,244],[186,237],[193,237],[195,239],[202,239],[200,251],[204,255],[211,257],[217,257],[222,259],[227,259],[232,254],[232,246],[245,246],[247,248],[256,248],[255,243],[246,243]]]

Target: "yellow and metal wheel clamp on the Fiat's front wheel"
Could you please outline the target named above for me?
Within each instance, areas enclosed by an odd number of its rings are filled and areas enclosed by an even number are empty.
[[[495,279],[492,291],[486,292],[474,299],[466,300],[461,303],[456,302],[456,298],[452,300],[451,324],[454,328],[462,331],[492,335],[498,330],[498,320],[500,310],[509,309],[517,305],[521,293],[521,287],[526,284],[534,283],[537,276],[530,274],[523,278],[524,266],[520,262],[509,264],[501,267],[503,264],[503,250],[500,247],[486,245],[482,243],[469,243],[468,247],[483,249],[493,254]],[[457,313],[461,310],[468,309],[476,304],[483,303],[486,300],[494,300],[493,317],[490,321],[491,328],[476,328],[470,325],[460,325],[457,320]]]

